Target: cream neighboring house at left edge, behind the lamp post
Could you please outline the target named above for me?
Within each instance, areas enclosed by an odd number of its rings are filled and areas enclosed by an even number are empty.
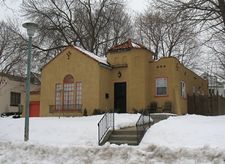
[[[31,73],[31,91],[40,87],[40,80]],[[0,73],[0,114],[18,112],[18,105],[24,105],[25,78]]]

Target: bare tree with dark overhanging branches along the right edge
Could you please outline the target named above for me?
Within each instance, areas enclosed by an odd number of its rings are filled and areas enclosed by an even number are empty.
[[[160,10],[170,13],[187,13],[183,21],[196,24],[200,32],[204,32],[202,45],[210,47],[219,59],[222,74],[225,78],[225,1],[224,0],[155,0],[155,5]],[[207,33],[206,33],[207,32]],[[205,35],[206,34],[206,35]],[[209,54],[211,55],[211,54]],[[216,70],[214,72],[217,72]],[[218,75],[218,73],[215,73]]]

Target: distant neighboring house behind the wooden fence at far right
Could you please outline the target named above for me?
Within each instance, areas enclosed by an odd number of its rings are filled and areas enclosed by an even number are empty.
[[[207,73],[203,73],[202,77],[209,82],[209,94],[220,95],[225,97],[225,82],[219,80],[217,76],[212,76]]]

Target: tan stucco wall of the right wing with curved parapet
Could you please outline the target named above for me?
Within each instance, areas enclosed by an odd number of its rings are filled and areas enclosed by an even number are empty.
[[[193,95],[193,86],[201,94],[208,94],[208,82],[194,72],[184,67],[176,58],[161,58],[159,61],[150,64],[153,76],[151,76],[151,88],[156,89],[155,79],[157,77],[167,78],[168,95],[156,96],[156,91],[151,92],[151,101],[156,101],[159,111],[163,109],[166,101],[172,102],[172,111],[177,114],[187,113],[187,97],[181,97],[180,82],[186,85],[186,94]],[[153,85],[152,85],[153,84]]]

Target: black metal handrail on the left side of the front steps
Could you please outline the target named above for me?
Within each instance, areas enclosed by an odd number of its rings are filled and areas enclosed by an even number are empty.
[[[107,132],[115,128],[114,113],[105,113],[101,120],[98,122],[98,144],[100,145]]]

